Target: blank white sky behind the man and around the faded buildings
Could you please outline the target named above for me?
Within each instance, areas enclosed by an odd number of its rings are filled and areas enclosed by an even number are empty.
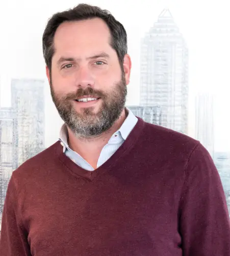
[[[225,3],[224,3],[225,2]],[[59,136],[62,120],[51,100],[45,77],[41,38],[47,19],[82,1],[47,3],[44,0],[11,1],[0,4],[1,104],[10,105],[10,79],[35,78],[45,80],[45,145],[54,143]],[[159,14],[168,7],[183,34],[189,49],[189,135],[194,136],[195,95],[213,93],[215,108],[215,151],[230,151],[230,120],[225,112],[230,108],[230,79],[228,77],[230,39],[226,1],[87,1],[108,9],[124,25],[128,36],[128,52],[133,68],[128,86],[127,104],[139,104],[140,40],[157,22]],[[119,5],[120,3],[120,5]],[[137,2],[138,3],[138,2]],[[225,6],[224,6],[225,4]],[[132,8],[131,8],[132,7]],[[138,17],[138,18],[137,18]],[[56,125],[56,126],[54,126]]]

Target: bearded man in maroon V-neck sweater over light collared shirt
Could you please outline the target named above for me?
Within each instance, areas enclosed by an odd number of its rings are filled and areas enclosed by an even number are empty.
[[[220,177],[201,144],[124,108],[123,26],[81,4],[43,34],[60,140],[13,172],[1,256],[229,256]]]

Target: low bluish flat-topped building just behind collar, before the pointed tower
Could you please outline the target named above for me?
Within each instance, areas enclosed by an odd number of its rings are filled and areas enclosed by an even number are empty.
[[[145,122],[162,125],[161,108],[159,106],[127,106],[127,108]]]

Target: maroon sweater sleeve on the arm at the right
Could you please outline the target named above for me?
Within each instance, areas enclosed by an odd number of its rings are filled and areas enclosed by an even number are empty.
[[[179,229],[184,256],[230,255],[230,221],[222,183],[200,143],[185,169]]]

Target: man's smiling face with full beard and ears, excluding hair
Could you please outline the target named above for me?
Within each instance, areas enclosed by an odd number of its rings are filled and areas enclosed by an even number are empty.
[[[54,47],[46,74],[61,118],[79,137],[109,130],[124,108],[131,64],[125,56],[120,67],[106,23],[99,18],[63,23]]]

